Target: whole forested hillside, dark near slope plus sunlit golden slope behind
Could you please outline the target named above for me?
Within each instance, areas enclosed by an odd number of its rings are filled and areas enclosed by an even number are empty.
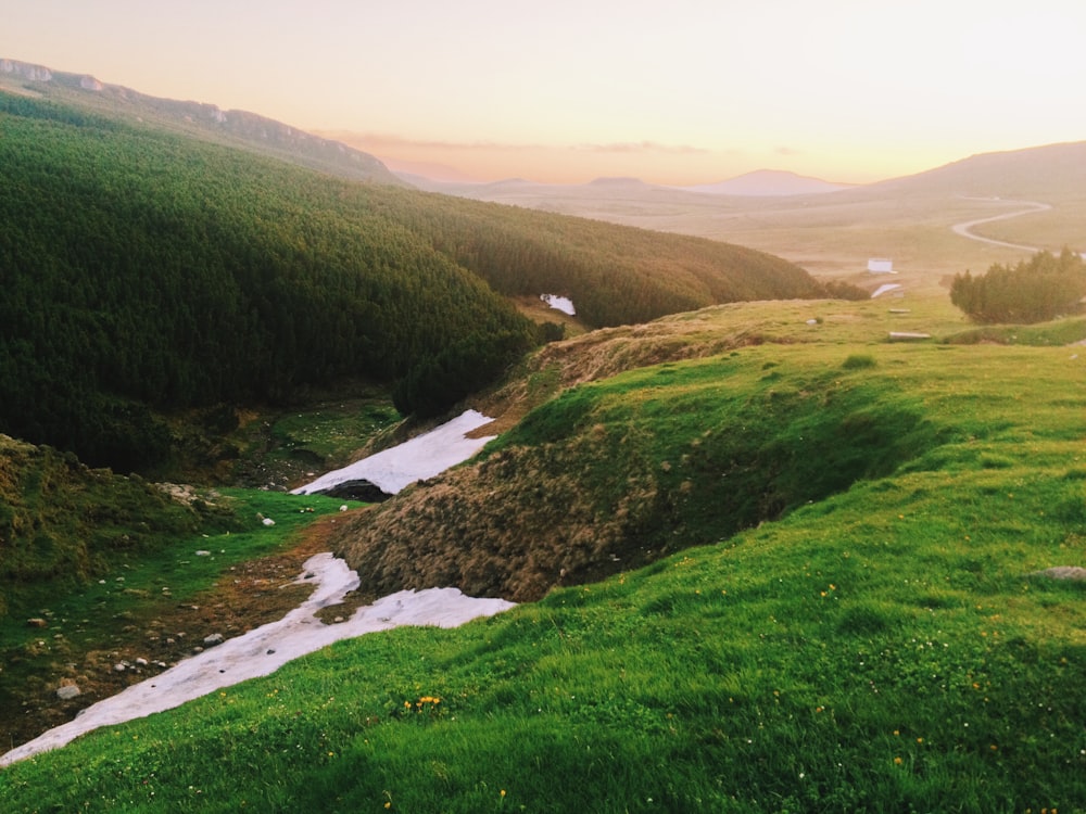
[[[435,415],[536,342],[502,293],[572,295],[591,325],[822,293],[724,244],[350,182],[3,93],[0,183],[0,432],[126,470],[167,454],[156,411],[342,377]]]

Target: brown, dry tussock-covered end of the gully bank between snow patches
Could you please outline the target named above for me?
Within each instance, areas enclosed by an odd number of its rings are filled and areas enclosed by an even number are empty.
[[[597,460],[603,454],[588,453]],[[667,554],[634,533],[658,510],[653,474],[623,478],[622,494],[604,507],[581,481],[584,466],[577,450],[557,445],[506,449],[352,516],[337,524],[332,547],[365,592],[456,586],[513,601]]]

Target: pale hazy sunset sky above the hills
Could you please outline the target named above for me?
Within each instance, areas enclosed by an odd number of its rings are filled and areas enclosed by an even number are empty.
[[[23,0],[0,58],[393,166],[834,181],[1086,140],[1083,0]]]

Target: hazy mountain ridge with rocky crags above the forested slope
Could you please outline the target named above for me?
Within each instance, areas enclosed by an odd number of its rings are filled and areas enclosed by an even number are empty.
[[[92,106],[102,113],[154,122],[189,136],[245,147],[342,178],[405,186],[369,153],[255,113],[224,111],[214,104],[150,97],[131,88],[101,82],[87,74],[53,71],[16,60],[0,59],[0,90],[70,101]]]

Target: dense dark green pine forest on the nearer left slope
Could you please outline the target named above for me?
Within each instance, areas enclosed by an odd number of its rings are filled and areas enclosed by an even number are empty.
[[[149,408],[395,381],[457,343],[487,381],[534,342],[350,183],[0,100],[0,432],[139,469],[169,443]]]

